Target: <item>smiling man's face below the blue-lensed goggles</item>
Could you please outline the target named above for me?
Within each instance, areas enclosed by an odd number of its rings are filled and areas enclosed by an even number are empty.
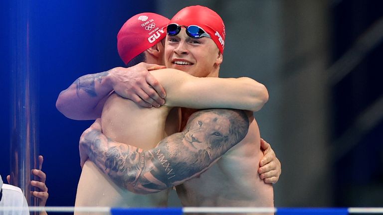
[[[222,54],[214,41],[207,37],[194,39],[185,28],[175,36],[167,35],[165,65],[196,77],[218,77]]]

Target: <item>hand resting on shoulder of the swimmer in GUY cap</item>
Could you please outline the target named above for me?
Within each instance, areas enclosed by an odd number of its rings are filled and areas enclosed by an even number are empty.
[[[149,71],[165,68],[156,64],[139,63],[129,68],[114,68],[109,75],[114,91],[121,97],[142,107],[159,108],[165,104],[166,93]]]

